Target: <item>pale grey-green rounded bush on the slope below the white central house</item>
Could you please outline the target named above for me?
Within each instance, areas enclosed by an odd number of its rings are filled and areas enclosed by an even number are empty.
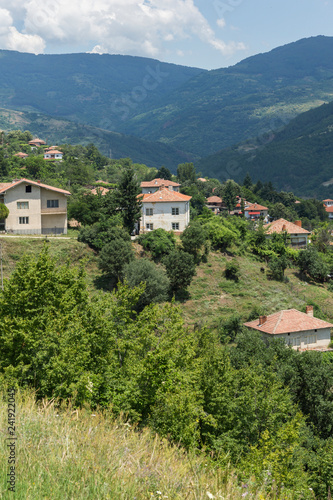
[[[131,288],[140,283],[145,289],[137,303],[137,309],[142,310],[153,302],[163,302],[168,298],[170,281],[165,269],[148,259],[138,259],[124,267],[124,276]]]

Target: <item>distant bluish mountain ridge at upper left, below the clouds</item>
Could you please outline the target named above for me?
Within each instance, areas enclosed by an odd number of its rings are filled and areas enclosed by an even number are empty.
[[[0,51],[0,106],[118,130],[204,72],[144,57]]]

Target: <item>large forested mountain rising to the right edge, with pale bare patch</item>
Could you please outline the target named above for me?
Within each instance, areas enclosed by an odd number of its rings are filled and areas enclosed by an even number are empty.
[[[215,153],[332,100],[332,54],[333,37],[319,36],[201,73],[121,130],[200,156]]]

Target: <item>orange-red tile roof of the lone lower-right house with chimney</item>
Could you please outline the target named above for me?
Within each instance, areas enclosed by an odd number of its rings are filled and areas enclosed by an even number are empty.
[[[266,317],[266,321],[260,325],[259,318],[244,323],[248,328],[254,328],[264,333],[278,335],[281,333],[303,332],[306,330],[319,330],[320,328],[332,328],[332,323],[314,318],[309,314],[297,311],[297,309],[285,309]]]

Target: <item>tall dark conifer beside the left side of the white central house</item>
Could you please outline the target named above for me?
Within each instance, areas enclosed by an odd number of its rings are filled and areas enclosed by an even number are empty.
[[[132,233],[135,223],[141,217],[142,202],[138,198],[139,193],[140,184],[133,167],[125,167],[114,196],[118,209],[122,213],[124,227],[129,233]]]

